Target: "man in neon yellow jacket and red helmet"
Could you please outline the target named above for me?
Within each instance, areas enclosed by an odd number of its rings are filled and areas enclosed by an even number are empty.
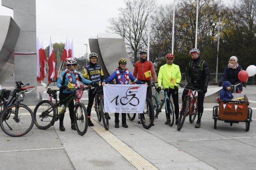
[[[168,89],[168,97],[170,98],[172,95],[173,104],[174,104],[174,113],[175,113],[175,124],[178,125],[179,119],[179,94],[178,94],[178,85],[176,83],[180,83],[181,74],[180,67],[173,63],[175,56],[171,53],[166,54],[166,64],[160,67],[158,73],[158,88],[156,91],[159,93],[161,91],[161,85],[163,85],[163,89]],[[175,81],[176,80],[176,81]],[[170,114],[167,115],[168,120],[165,122],[166,125],[170,123]]]

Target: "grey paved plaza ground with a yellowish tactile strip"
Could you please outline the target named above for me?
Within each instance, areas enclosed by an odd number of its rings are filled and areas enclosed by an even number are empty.
[[[1,169],[255,169],[256,86],[248,85],[243,93],[252,108],[249,132],[245,123],[231,127],[224,121],[217,121],[214,129],[216,103],[204,104],[201,128],[196,129],[187,117],[180,131],[175,124],[164,124],[164,112],[148,130],[137,124],[137,117],[127,121],[128,128],[115,128],[110,114],[106,131],[93,112],[95,126],[80,136],[71,130],[66,114],[65,132],[59,130],[59,122],[47,130],[34,126],[22,137],[0,131]],[[33,100],[26,101],[32,110],[38,102]]]

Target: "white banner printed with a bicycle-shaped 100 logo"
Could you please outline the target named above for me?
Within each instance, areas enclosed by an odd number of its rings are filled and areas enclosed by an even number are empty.
[[[105,85],[104,108],[108,113],[143,113],[147,85]]]

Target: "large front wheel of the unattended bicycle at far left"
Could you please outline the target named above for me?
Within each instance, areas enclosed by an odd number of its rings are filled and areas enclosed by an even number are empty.
[[[26,106],[24,104],[22,104],[22,105],[19,104],[18,107],[23,108],[23,109],[19,109],[19,110],[26,110],[26,111],[23,115],[21,114],[21,112],[18,112],[19,121],[18,122],[15,121],[15,117],[14,117],[15,116],[15,110],[16,110],[15,107],[16,107],[16,104],[9,105],[8,107],[6,107],[4,112],[2,112],[2,114],[0,116],[0,127],[3,130],[3,132],[6,133],[7,135],[12,136],[12,137],[20,137],[20,136],[23,136],[23,135],[27,134],[32,129],[32,127],[34,125],[35,118],[33,116],[32,110],[28,106]],[[15,110],[12,110],[11,108],[14,108]],[[14,111],[14,114],[11,111]],[[26,114],[28,114],[28,115],[26,115]],[[11,118],[11,116],[13,116],[13,118]],[[31,121],[27,119],[27,117],[29,117],[29,119],[30,119],[30,116],[31,116]],[[6,122],[6,120],[7,121],[9,120],[8,123]],[[28,128],[25,127],[25,122],[27,120],[28,120],[28,125],[29,125]],[[10,121],[13,121],[13,125],[11,125]],[[6,126],[4,125],[4,123],[6,123]],[[19,125],[22,125],[22,127],[18,128]],[[19,129],[19,133],[9,132],[6,127],[7,128],[12,127],[12,129],[10,129],[10,128],[9,129],[13,132],[14,132],[15,129],[16,130]],[[24,132],[21,132],[22,129],[24,129]]]

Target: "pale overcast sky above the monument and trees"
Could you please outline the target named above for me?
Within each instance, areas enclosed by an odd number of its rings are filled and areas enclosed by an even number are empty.
[[[0,0],[1,4],[2,1]],[[169,4],[173,0],[156,0],[158,4]],[[224,0],[230,4],[234,0]],[[108,19],[117,16],[118,9],[124,7],[123,0],[36,0],[37,36],[44,46],[52,42],[70,43],[74,38],[75,56],[86,52],[88,38],[97,33],[105,33]],[[0,15],[13,17],[13,10],[0,5]],[[60,54],[61,55],[61,54]]]

